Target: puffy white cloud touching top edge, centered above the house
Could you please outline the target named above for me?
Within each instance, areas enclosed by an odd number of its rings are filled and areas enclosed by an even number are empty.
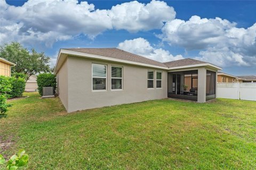
[[[163,22],[173,20],[176,15],[173,7],[155,0],[148,4],[132,1],[116,5],[108,11],[108,14],[115,29],[125,29],[130,32],[161,29]]]

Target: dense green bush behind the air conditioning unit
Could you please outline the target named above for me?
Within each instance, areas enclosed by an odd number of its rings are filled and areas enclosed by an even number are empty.
[[[55,94],[56,90],[56,76],[52,73],[41,73],[37,75],[37,86],[38,92],[41,96],[43,96],[43,87],[53,87],[53,91]]]

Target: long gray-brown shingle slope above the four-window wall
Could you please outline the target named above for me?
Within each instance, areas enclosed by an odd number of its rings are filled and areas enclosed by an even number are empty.
[[[116,58],[116,59],[120,59],[120,60],[131,61],[131,62],[138,62],[138,63],[166,67],[166,65],[164,63],[150,60],[149,58],[142,57],[142,56],[139,56],[136,54],[132,54],[132,53],[126,52],[126,51],[124,51],[122,49],[118,49],[118,48],[62,48],[62,49],[67,49],[67,50],[71,50],[74,52],[81,52],[81,53],[111,57],[111,58]]]

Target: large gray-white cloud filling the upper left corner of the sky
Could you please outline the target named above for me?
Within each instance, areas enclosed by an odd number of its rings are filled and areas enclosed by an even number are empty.
[[[0,1],[1,43],[14,40],[51,46],[81,33],[93,37],[113,28],[107,10],[94,10],[87,2],[29,0],[16,7]]]

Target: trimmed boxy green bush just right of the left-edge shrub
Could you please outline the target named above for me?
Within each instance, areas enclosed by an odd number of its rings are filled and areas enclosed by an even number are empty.
[[[25,91],[25,86],[26,86],[26,82],[25,79],[23,78],[10,78],[11,80],[11,92],[9,92],[8,94],[10,95],[10,97],[21,97],[23,92]]]

